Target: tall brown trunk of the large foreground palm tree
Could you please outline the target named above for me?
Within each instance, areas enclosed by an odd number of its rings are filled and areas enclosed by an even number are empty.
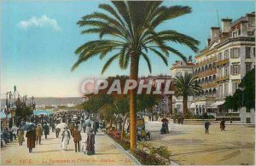
[[[130,79],[137,81],[139,56],[135,53],[131,54]],[[135,149],[137,141],[137,89],[130,91],[130,148]]]

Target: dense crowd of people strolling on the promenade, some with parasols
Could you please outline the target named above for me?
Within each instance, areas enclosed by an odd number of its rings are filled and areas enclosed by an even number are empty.
[[[62,150],[67,151],[73,139],[75,152],[84,152],[88,155],[95,154],[95,135],[99,128],[102,129],[105,126],[104,121],[93,119],[88,112],[78,110],[23,117],[17,119],[16,124],[18,127],[11,125],[3,129],[1,135],[3,144],[18,140],[19,145],[22,146],[26,137],[27,148],[31,153],[36,145],[42,144],[41,137],[44,135],[46,140],[49,132],[52,132],[55,133],[56,139],[61,138]],[[83,132],[86,135],[82,136]]]

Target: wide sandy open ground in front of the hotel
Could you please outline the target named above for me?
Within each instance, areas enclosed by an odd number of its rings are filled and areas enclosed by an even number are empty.
[[[255,128],[245,125],[228,125],[220,131],[211,125],[209,135],[204,125],[169,124],[170,134],[160,135],[161,123],[146,123],[155,146],[168,146],[172,160],[182,165],[240,165],[254,164]]]

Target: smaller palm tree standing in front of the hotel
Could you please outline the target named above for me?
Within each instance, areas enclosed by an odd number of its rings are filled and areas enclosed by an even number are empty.
[[[177,95],[183,96],[183,113],[188,113],[188,96],[201,94],[201,86],[196,82],[197,77],[192,74],[179,75],[174,78]]]

